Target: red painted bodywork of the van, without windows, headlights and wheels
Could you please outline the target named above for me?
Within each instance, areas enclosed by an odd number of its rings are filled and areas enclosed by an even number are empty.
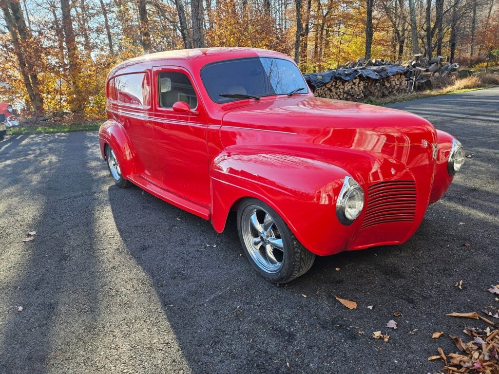
[[[406,241],[428,204],[452,182],[447,159],[454,138],[407,112],[311,93],[213,102],[201,68],[254,56],[291,61],[266,50],[205,48],[156,53],[115,67],[108,79],[146,72],[157,82],[161,71],[181,71],[194,86],[198,106],[195,113],[161,108],[154,83],[149,106],[108,100],[109,121],[99,134],[103,157],[109,144],[124,178],[211,219],[219,232],[242,198],[256,197],[319,255]],[[345,176],[366,193],[363,212],[349,226],[335,213]],[[400,219],[387,218],[394,211]]]

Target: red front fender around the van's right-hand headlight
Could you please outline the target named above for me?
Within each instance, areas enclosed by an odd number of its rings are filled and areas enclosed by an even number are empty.
[[[449,154],[451,153],[452,141],[454,139],[456,138],[451,134],[448,134],[445,131],[437,130],[437,162],[435,167],[435,178],[430,192],[429,204],[433,204],[434,202],[440,200],[454,179],[454,177],[452,177],[447,170]]]

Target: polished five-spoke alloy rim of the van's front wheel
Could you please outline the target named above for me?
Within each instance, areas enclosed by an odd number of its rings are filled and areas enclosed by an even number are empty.
[[[255,264],[267,273],[277,273],[284,263],[284,245],[270,214],[257,205],[246,207],[241,217],[241,233]]]

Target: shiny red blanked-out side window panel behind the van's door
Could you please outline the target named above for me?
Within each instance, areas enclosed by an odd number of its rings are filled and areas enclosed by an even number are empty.
[[[124,103],[133,105],[149,105],[150,101],[150,85],[149,75],[146,73],[135,73],[119,75],[114,78],[113,89],[111,82],[109,83],[109,93],[114,93],[114,99]]]

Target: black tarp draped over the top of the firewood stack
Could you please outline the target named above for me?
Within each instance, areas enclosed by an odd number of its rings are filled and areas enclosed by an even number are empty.
[[[308,86],[314,90],[320,88],[333,79],[352,80],[359,75],[365,79],[383,79],[395,74],[405,73],[408,68],[398,65],[368,66],[353,69],[336,69],[323,73],[303,74]]]

